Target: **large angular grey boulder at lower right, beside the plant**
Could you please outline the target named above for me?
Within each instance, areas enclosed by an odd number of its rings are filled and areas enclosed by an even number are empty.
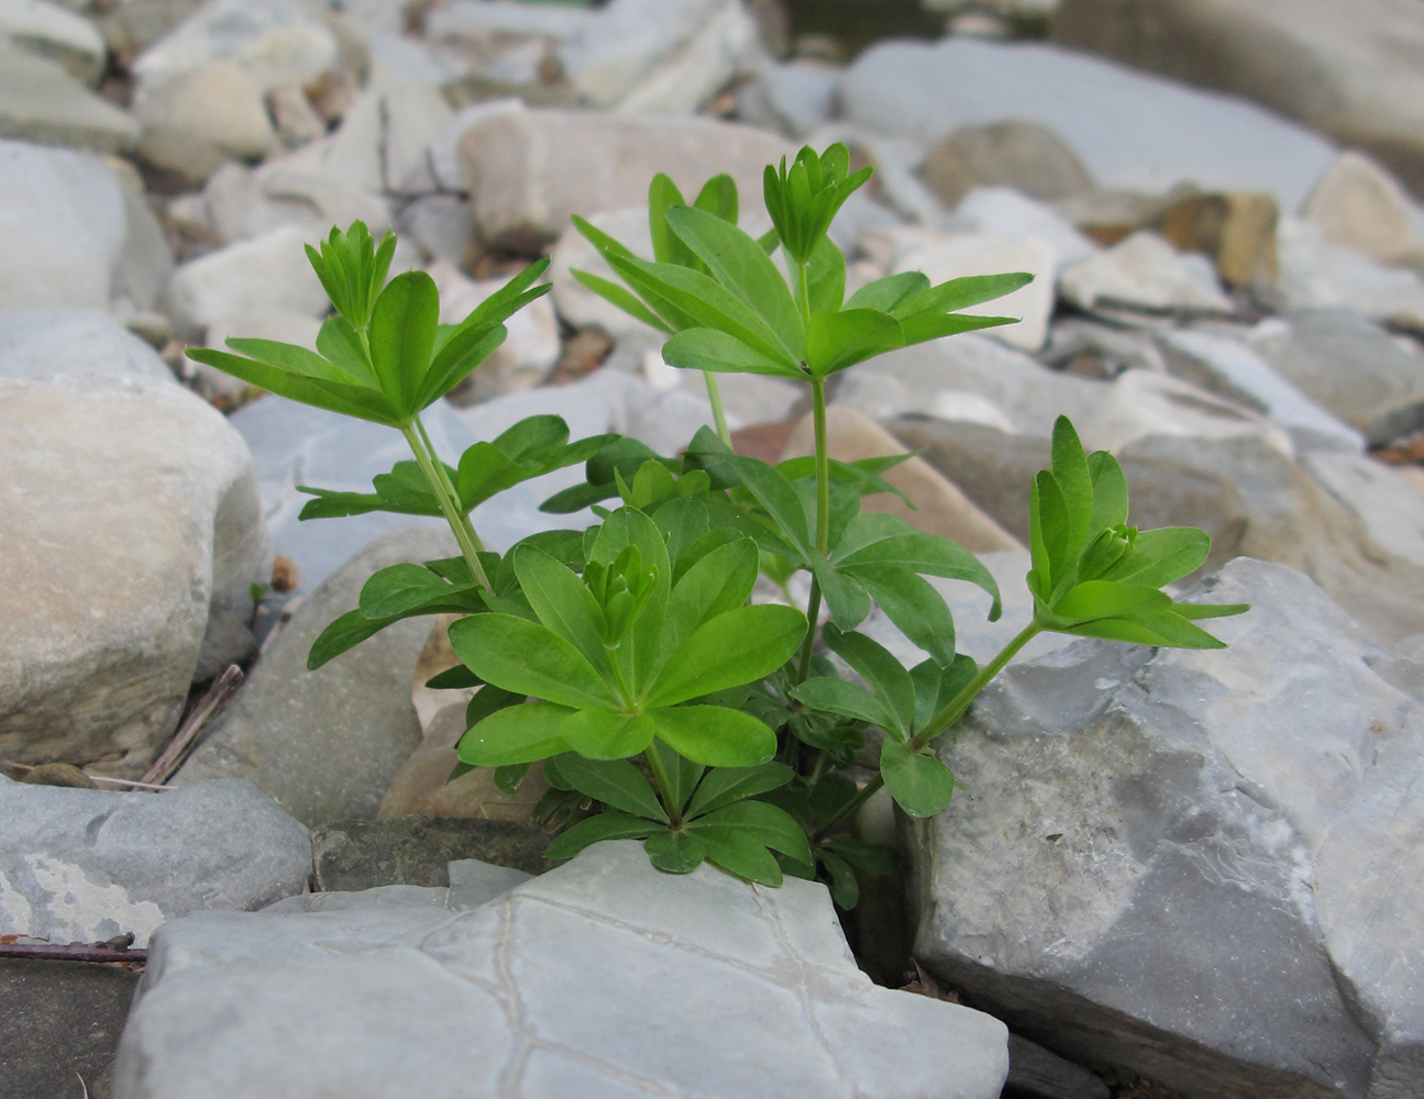
[[[1418,1090],[1424,706],[1300,574],[1200,591],[1252,604],[1226,651],[1082,641],[980,696],[941,749],[974,797],[914,831],[916,955],[1186,1099]]]

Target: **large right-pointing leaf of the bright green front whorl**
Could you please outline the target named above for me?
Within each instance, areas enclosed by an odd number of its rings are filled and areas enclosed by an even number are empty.
[[[806,618],[790,606],[763,604],[728,611],[698,626],[668,658],[644,703],[674,706],[762,679],[786,663],[805,636]]]

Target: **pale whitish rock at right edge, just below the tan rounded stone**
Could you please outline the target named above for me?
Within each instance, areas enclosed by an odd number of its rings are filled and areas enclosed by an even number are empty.
[[[1349,306],[1370,317],[1424,325],[1424,280],[1326,241],[1314,225],[1282,218],[1280,292],[1290,309]]]

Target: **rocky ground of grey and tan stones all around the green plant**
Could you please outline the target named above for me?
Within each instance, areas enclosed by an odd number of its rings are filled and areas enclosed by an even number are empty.
[[[0,1095],[1424,1093],[1420,47],[1414,0],[0,0]],[[907,873],[839,921],[629,846],[551,867],[537,777],[444,782],[439,622],[306,672],[449,535],[298,524],[400,437],[182,354],[315,340],[333,224],[393,226],[443,320],[550,255],[436,447],[557,413],[674,453],[702,380],[572,279],[570,215],[651,252],[649,178],[728,171],[762,231],[762,165],[832,141],[877,169],[852,280],[1037,275],[833,391],[834,456],[918,453],[918,510],[876,505],[1004,587],[1000,624],[946,588],[960,649],[1030,608],[1061,413],[1255,608],[1220,653],[1035,641],[950,810],[867,807]],[[746,453],[807,453],[795,386],[722,391]],[[474,522],[567,525],[577,477]]]

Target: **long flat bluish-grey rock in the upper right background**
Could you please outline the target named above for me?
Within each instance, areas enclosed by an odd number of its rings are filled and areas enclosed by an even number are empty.
[[[1048,127],[1101,186],[1263,191],[1294,209],[1334,147],[1252,104],[1047,43],[887,41],[842,81],[844,114],[928,145],[963,125]]]

